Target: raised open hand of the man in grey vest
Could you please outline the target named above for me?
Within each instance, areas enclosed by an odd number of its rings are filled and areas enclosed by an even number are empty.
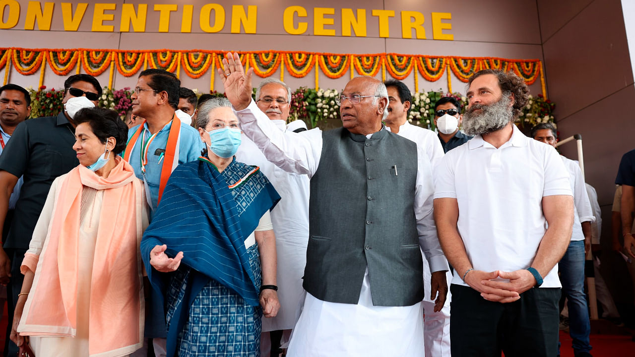
[[[225,86],[225,96],[234,106],[236,111],[242,111],[251,103],[251,74],[253,68],[244,72],[243,64],[240,62],[238,53],[227,53],[223,58],[224,69],[218,67],[220,75]]]

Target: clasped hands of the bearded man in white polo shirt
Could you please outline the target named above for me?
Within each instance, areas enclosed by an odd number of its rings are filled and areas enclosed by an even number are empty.
[[[502,278],[509,281],[493,281]],[[516,271],[471,270],[465,276],[465,283],[481,293],[485,300],[496,302],[514,302],[520,294],[536,285],[536,278],[526,269]]]

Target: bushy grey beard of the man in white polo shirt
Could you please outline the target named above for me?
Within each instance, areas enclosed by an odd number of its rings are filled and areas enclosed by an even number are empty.
[[[463,132],[467,135],[483,135],[492,133],[504,128],[507,123],[514,119],[511,98],[503,95],[497,102],[492,104],[472,104],[463,114]],[[475,113],[476,109],[481,112]]]

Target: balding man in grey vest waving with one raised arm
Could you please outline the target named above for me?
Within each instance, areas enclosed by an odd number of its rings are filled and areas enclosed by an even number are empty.
[[[251,100],[253,71],[244,74],[237,53],[223,62],[218,73],[244,133],[269,161],[311,178],[307,294],[287,355],[422,356],[419,249],[432,272],[448,266],[432,220],[429,158],[382,128],[384,84],[352,79],[337,98],[342,128],[295,135]],[[445,300],[441,284],[432,292]]]

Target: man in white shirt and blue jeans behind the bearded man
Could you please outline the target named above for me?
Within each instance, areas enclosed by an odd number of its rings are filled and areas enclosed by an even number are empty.
[[[539,142],[556,147],[556,126],[552,123],[540,123],[531,128],[530,136]],[[566,253],[558,263],[562,293],[567,298],[569,309],[569,334],[575,357],[591,356],[589,333],[589,307],[584,293],[584,257],[591,250],[591,224],[595,217],[591,201],[584,184],[580,165],[573,160],[560,156],[569,172],[573,191],[573,232]]]

